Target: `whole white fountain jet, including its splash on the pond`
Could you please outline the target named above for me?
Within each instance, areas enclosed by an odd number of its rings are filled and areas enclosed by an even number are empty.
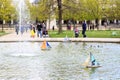
[[[19,31],[22,34],[23,29],[26,27],[25,25],[30,21],[30,12],[28,9],[28,6],[26,4],[26,0],[13,0],[13,5],[16,7],[17,13],[18,13],[18,24],[19,24]],[[23,36],[20,36],[20,42],[18,42],[18,52],[15,51],[12,52],[11,56],[15,57],[24,57],[24,56],[36,56],[34,52],[30,53],[29,51],[26,51],[26,46],[24,42],[21,42],[21,38]]]

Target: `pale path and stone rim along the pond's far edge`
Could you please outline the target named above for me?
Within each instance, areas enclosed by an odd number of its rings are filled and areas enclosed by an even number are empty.
[[[49,42],[62,42],[64,38],[31,38],[30,32],[24,32],[23,35],[17,35],[14,31],[8,35],[0,37],[0,42],[41,42],[47,40]],[[108,43],[120,43],[120,38],[69,38],[72,42],[108,42]]]

